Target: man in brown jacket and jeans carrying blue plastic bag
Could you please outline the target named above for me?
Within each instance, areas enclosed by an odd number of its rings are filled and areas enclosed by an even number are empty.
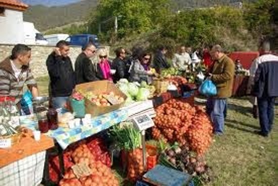
[[[235,75],[235,63],[227,57],[220,45],[214,45],[210,51],[214,65],[209,78],[217,87],[217,96],[207,100],[207,114],[213,122],[213,131],[216,135],[224,132],[224,119],[227,112],[227,98],[231,96]]]

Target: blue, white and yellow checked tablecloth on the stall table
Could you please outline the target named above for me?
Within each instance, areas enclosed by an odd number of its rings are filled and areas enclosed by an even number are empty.
[[[91,119],[91,125],[80,125],[73,129],[59,127],[56,130],[49,130],[46,135],[56,139],[62,149],[66,149],[70,144],[80,141],[86,137],[103,131],[115,124],[118,124],[128,117],[125,109],[116,110]],[[37,130],[37,121],[33,116],[23,116],[20,118],[21,125],[31,130]]]

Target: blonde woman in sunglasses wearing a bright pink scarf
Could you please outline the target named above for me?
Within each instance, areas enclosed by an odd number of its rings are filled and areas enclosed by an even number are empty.
[[[99,62],[97,64],[97,78],[100,80],[109,80],[113,81],[112,79],[112,72],[111,70],[111,62],[107,59],[107,52],[104,49],[100,49],[99,51]]]

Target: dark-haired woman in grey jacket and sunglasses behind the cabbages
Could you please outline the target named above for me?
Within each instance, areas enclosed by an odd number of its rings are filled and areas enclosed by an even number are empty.
[[[148,84],[152,82],[154,73],[151,71],[152,54],[143,52],[138,60],[136,60],[131,68],[129,81],[146,81]]]

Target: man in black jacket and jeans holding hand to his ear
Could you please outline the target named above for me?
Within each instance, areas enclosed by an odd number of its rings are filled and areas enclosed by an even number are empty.
[[[61,40],[47,59],[52,107],[64,108],[75,87],[75,73],[69,58],[69,43]]]

